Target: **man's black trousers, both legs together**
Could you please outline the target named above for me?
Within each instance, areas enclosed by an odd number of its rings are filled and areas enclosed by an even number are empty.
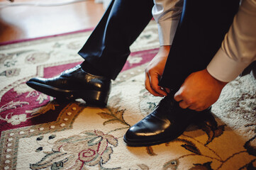
[[[240,0],[184,0],[160,86],[177,91],[192,72],[205,69],[238,11]],[[104,76],[116,79],[130,45],[152,18],[152,0],[113,0],[79,51]]]

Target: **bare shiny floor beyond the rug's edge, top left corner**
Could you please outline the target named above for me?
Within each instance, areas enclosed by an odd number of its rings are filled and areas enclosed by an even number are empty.
[[[94,0],[52,6],[63,2],[67,0],[0,0],[1,4],[23,4],[0,6],[0,43],[93,28],[104,14],[103,4]],[[51,6],[25,5],[28,3]]]

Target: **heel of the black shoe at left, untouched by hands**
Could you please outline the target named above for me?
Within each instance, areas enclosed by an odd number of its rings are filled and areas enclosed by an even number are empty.
[[[91,105],[105,107],[109,93],[103,91],[82,91],[80,98]]]

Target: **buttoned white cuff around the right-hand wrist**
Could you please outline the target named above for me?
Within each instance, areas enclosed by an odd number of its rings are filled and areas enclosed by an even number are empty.
[[[233,60],[221,48],[207,66],[207,71],[219,81],[233,81],[250,63]]]

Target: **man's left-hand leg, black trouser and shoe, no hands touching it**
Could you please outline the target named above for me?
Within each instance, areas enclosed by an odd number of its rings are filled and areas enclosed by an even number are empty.
[[[56,98],[82,98],[105,106],[115,79],[130,54],[129,47],[152,18],[152,0],[113,0],[79,55],[84,62],[50,79],[33,78],[27,84]]]

